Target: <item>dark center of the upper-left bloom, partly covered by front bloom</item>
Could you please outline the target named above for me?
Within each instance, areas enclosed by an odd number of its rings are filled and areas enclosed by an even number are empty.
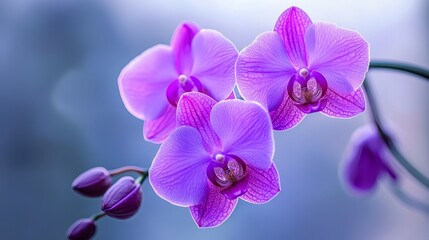
[[[177,106],[180,96],[186,92],[202,92],[201,82],[194,76],[180,75],[176,80],[170,83],[167,88],[168,102]]]

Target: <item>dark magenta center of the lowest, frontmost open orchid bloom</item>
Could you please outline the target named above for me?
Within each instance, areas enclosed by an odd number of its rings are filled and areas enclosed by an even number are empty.
[[[207,177],[230,199],[236,199],[247,192],[246,164],[236,156],[214,154],[207,167]]]

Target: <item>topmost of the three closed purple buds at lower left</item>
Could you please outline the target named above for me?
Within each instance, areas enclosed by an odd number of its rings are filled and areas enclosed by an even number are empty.
[[[73,190],[87,196],[103,195],[112,184],[109,172],[103,167],[91,168],[81,173],[72,183]]]

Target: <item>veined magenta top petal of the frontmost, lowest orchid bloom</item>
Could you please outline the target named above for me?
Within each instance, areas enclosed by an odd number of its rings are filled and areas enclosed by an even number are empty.
[[[210,124],[210,112],[216,103],[205,94],[192,92],[182,95],[177,105],[177,124],[197,129],[209,153],[220,147],[219,137]]]

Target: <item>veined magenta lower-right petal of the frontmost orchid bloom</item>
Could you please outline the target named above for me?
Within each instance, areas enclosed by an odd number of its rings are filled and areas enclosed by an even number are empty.
[[[247,192],[241,199],[250,203],[266,203],[280,192],[280,177],[274,163],[268,170],[262,171],[248,167],[249,182]]]

